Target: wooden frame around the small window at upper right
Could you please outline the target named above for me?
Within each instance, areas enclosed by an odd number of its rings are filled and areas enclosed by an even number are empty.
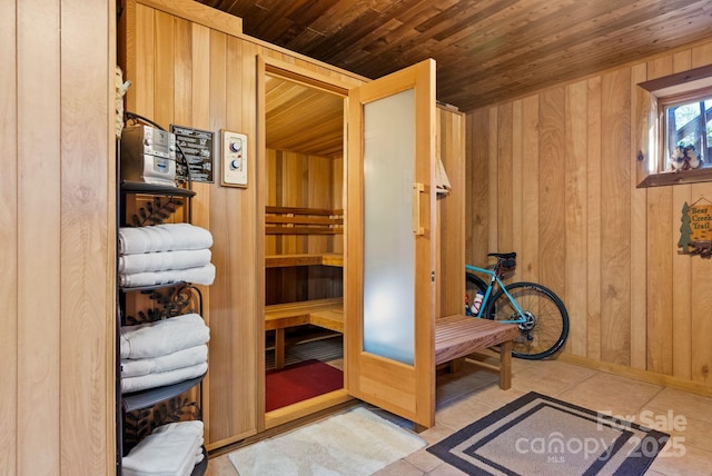
[[[637,188],[712,181],[712,161],[706,167],[671,171],[666,163],[665,108],[688,100],[712,98],[712,65],[637,85],[641,133],[637,136]]]

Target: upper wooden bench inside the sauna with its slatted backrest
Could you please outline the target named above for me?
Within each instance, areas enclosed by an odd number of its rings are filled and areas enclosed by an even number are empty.
[[[267,235],[343,235],[344,210],[298,207],[265,207]],[[344,266],[339,254],[267,255],[265,267]]]

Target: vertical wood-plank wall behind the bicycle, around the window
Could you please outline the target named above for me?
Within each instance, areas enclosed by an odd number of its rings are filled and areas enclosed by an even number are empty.
[[[678,240],[683,204],[712,197],[712,184],[639,189],[633,149],[635,85],[711,63],[712,40],[475,109],[466,122],[468,261],[521,246],[513,280],[538,280],[567,305],[565,354],[700,391],[712,391],[712,261],[679,255]],[[521,199],[503,186],[522,187]]]

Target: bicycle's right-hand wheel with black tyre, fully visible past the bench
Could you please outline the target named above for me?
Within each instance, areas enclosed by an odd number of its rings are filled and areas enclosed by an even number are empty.
[[[556,353],[568,337],[568,313],[558,296],[535,282],[514,282],[506,290],[524,316],[517,315],[503,289],[488,300],[484,315],[488,319],[517,321],[520,335],[512,344],[512,355],[536,360]]]

